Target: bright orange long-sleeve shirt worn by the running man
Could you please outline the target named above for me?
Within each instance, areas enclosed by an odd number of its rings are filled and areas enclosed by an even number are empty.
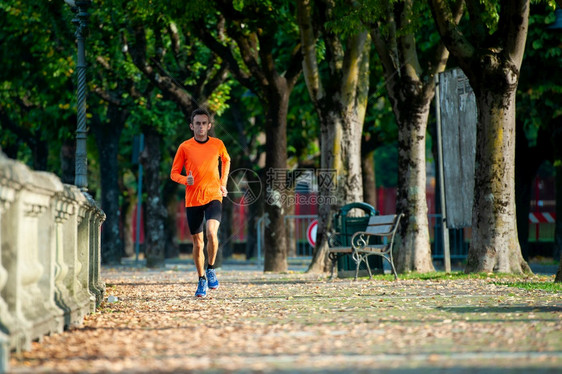
[[[222,161],[222,170],[219,176],[219,158]],[[193,175],[193,185],[187,185],[187,175],[182,169]],[[200,143],[191,138],[181,143],[174,157],[170,178],[185,186],[185,206],[201,206],[212,200],[222,202],[221,184],[226,186],[230,156],[222,140],[209,137]],[[222,180],[221,180],[222,177]]]

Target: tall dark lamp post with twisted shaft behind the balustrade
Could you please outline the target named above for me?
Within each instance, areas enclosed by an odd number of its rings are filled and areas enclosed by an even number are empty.
[[[88,159],[86,151],[86,48],[85,39],[88,28],[88,8],[91,0],[64,0],[74,12],[72,23],[76,25],[76,40],[78,57],[76,73],[78,75],[77,100],[76,100],[76,156],[74,184],[82,191],[88,189]]]

